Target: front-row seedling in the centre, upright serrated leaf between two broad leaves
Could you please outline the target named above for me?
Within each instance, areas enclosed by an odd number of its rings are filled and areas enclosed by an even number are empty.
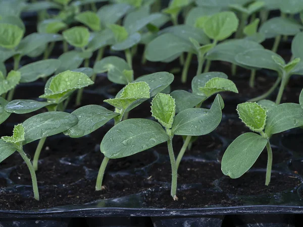
[[[172,168],[171,196],[174,200],[178,200],[176,195],[177,165],[172,146],[173,137],[174,135],[199,136],[213,131],[216,126],[212,121],[206,120],[209,116],[207,113],[210,111],[221,112],[223,105],[223,100],[218,94],[211,110],[189,108],[175,116],[174,98],[168,94],[159,93],[151,102],[151,113],[160,124],[146,119],[125,120],[107,132],[100,144],[100,150],[107,159],[121,158],[167,141]]]

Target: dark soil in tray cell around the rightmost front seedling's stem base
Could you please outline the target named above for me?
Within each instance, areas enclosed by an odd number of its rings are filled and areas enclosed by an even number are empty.
[[[246,173],[237,179],[224,177],[220,181],[219,187],[225,193],[249,196],[293,190],[302,183],[298,177],[272,173],[270,184],[266,186],[265,174],[265,172],[258,171]]]

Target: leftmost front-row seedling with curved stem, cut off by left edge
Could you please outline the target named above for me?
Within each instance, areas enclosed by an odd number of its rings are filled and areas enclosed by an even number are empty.
[[[16,125],[13,136],[4,136],[0,139],[0,162],[15,151],[18,151],[30,171],[36,200],[39,200],[39,192],[35,169],[24,152],[23,145],[46,136],[64,132],[76,125],[77,122],[78,119],[67,112],[44,112],[27,119],[22,124]]]

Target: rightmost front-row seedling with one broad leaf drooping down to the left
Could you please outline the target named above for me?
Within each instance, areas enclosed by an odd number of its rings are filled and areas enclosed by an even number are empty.
[[[283,103],[266,110],[256,102],[245,102],[237,106],[237,111],[252,132],[240,135],[228,146],[222,158],[222,172],[231,178],[241,177],[266,147],[265,185],[269,185],[273,158],[270,138],[273,134],[302,126],[303,109],[299,104]]]

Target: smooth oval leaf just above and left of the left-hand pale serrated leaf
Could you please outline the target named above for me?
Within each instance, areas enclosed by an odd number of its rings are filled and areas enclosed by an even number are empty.
[[[23,66],[19,69],[21,73],[21,83],[36,81],[38,78],[44,78],[52,75],[61,65],[57,59],[47,59],[37,61]]]

